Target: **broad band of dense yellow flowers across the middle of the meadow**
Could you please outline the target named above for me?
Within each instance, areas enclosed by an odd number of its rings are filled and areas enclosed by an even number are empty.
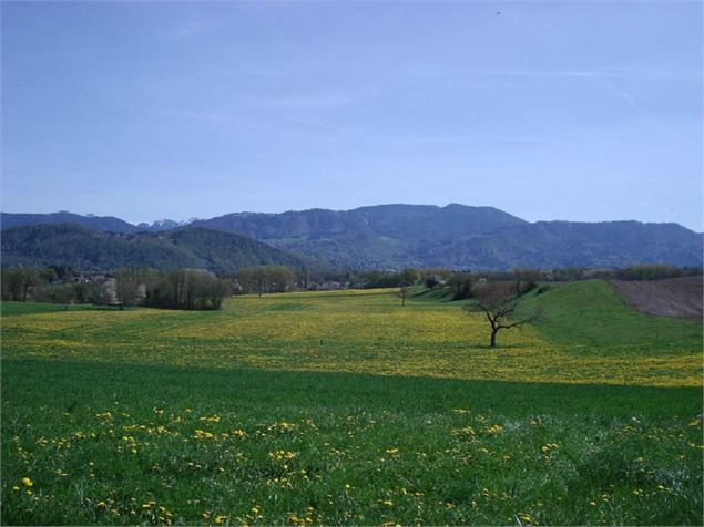
[[[280,309],[287,304],[305,309]],[[701,386],[703,374],[701,345],[585,353],[549,343],[527,326],[501,332],[499,348],[491,349],[481,314],[441,302],[401,308],[395,290],[247,296],[227,300],[218,312],[54,311],[2,322],[7,360],[653,386]],[[217,423],[220,416],[201,420]]]

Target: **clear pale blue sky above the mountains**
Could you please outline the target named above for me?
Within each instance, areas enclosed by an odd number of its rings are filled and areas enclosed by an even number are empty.
[[[698,1],[1,2],[1,208],[702,218]]]

